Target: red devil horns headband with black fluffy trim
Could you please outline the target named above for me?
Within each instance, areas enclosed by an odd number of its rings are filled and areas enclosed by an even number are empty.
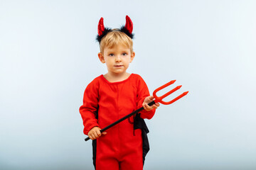
[[[134,34],[132,33],[133,30],[133,23],[131,18],[129,18],[129,16],[126,16],[126,23],[125,26],[122,26],[119,29],[121,32],[125,33],[126,35],[128,35],[130,38],[133,38]],[[107,33],[112,32],[113,30],[111,28],[105,28],[104,23],[103,23],[103,18],[100,18],[99,24],[98,24],[98,35],[96,40],[98,42],[100,42],[102,40],[102,38],[107,35]]]

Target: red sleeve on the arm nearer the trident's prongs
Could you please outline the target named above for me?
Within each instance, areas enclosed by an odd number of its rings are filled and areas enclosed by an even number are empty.
[[[142,103],[144,101],[144,99],[147,96],[150,96],[149,94],[149,89],[146,86],[145,81],[142,79],[142,77],[139,77],[139,82],[138,82],[138,86],[137,86],[137,108],[141,108],[142,107]],[[156,112],[156,109],[153,108],[151,111],[141,111],[141,118],[147,118],[147,119],[151,119],[154,116],[154,113]]]

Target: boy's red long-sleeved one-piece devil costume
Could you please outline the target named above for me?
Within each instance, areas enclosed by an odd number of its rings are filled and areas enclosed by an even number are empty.
[[[149,96],[149,90],[138,74],[131,74],[128,79],[114,83],[107,81],[103,75],[95,78],[85,89],[80,107],[85,135],[95,126],[105,128],[141,108],[146,96]],[[142,111],[139,115],[150,119],[154,113],[155,109]],[[134,128],[132,117],[107,130],[107,135],[93,140],[95,169],[142,170],[145,154],[142,151],[143,133],[143,128]]]

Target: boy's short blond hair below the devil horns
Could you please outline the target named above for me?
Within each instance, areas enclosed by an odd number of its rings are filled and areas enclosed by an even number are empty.
[[[114,45],[122,44],[126,47],[129,47],[131,52],[133,52],[133,42],[132,38],[129,38],[128,35],[119,31],[119,29],[113,29],[112,32],[107,33],[104,38],[100,41],[100,52],[104,52],[105,47],[114,47]]]

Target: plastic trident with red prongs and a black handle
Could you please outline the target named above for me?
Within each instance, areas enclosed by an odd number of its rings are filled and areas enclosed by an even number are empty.
[[[176,80],[172,80],[167,84],[164,84],[163,86],[160,86],[159,88],[157,88],[156,90],[154,90],[153,92],[153,96],[155,98],[154,101],[151,101],[150,103],[148,103],[149,106],[154,105],[154,103],[162,103],[164,105],[169,105],[171,103],[174,103],[175,101],[178,101],[178,99],[182,98],[183,96],[186,96],[186,94],[188,94],[188,91],[183,92],[183,94],[181,94],[180,96],[174,98],[171,101],[163,101],[163,98],[166,98],[166,96],[169,96],[170,94],[174,93],[174,91],[177,91],[178,89],[181,89],[181,86],[176,86],[176,88],[172,89],[171,91],[167,92],[166,94],[164,94],[163,96],[156,96],[156,92],[160,91],[161,89],[166,88],[166,86],[170,86],[171,84],[174,84]],[[129,113],[129,115],[124,116],[124,118],[121,118],[119,120],[117,120],[116,122],[112,123],[111,125],[108,125],[107,127],[103,128],[102,130],[100,130],[100,132],[105,132],[106,130],[112,128],[114,125],[117,125],[118,123],[122,122],[123,120],[126,120],[127,118],[131,117],[132,115],[135,115],[137,113],[139,113],[140,111],[144,110],[144,108],[139,108],[138,110]],[[90,140],[90,137],[85,138],[85,141]]]

